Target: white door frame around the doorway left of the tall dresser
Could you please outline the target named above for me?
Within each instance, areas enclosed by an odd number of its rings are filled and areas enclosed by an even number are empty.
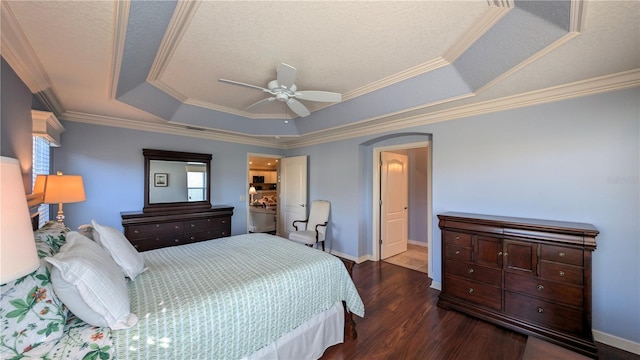
[[[372,174],[372,202],[373,211],[372,211],[372,249],[373,261],[380,261],[380,153],[384,151],[393,151],[393,150],[407,150],[407,149],[415,149],[415,148],[427,148],[427,252],[428,252],[428,268],[427,272],[429,274],[433,274],[433,195],[432,195],[432,144],[430,140],[420,141],[414,143],[407,144],[399,144],[399,145],[390,145],[390,146],[380,146],[373,148],[373,174]],[[409,193],[411,196],[411,193]]]

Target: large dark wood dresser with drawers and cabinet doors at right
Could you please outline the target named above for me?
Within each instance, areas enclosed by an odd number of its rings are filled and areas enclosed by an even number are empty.
[[[438,215],[438,306],[597,357],[591,332],[590,224]]]

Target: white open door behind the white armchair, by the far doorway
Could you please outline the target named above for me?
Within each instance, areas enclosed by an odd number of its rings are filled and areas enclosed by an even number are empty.
[[[294,220],[307,218],[307,157],[296,156],[280,160],[280,216],[278,235],[288,238],[295,228]]]

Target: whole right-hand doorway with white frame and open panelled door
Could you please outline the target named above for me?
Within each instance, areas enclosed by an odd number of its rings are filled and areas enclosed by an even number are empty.
[[[373,258],[431,273],[431,144],[373,152]]]

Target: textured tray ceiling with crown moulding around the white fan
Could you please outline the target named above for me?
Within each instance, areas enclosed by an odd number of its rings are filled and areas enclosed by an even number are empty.
[[[232,141],[287,146],[640,84],[638,1],[3,1],[1,10],[2,56],[60,118]],[[343,101],[302,101],[306,118],[277,101],[247,111],[268,95],[217,81],[266,86],[281,62],[298,69],[299,89]]]

